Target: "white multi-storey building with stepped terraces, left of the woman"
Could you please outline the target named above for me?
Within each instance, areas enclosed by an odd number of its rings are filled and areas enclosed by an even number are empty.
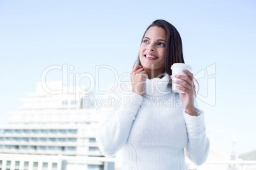
[[[62,82],[48,85],[62,88]],[[93,95],[81,95],[76,101],[77,95],[81,94],[51,95],[38,83],[36,93],[20,100],[20,110],[9,112],[8,125],[0,126],[0,153],[101,157],[95,139],[99,114],[96,109],[83,107],[83,97]],[[82,166],[103,169],[104,162]]]

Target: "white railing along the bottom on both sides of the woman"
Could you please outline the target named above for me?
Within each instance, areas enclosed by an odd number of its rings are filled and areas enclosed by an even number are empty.
[[[92,169],[114,170],[114,162],[121,162],[120,158],[84,157],[63,155],[24,155],[24,154],[0,154],[1,170],[69,170],[87,169],[88,164],[94,165]],[[247,170],[256,169],[255,160],[207,160],[203,166],[195,166],[186,160],[189,169],[218,169],[218,170]],[[83,164],[83,168],[82,165]],[[80,165],[80,167],[78,167]],[[225,167],[216,167],[225,166]]]

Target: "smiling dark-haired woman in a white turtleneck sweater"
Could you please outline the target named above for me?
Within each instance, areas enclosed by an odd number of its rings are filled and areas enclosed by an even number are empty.
[[[193,74],[177,75],[183,81],[176,84],[184,86],[177,88],[184,93],[174,93],[173,63],[184,63],[180,34],[171,23],[155,20],[143,35],[131,83],[118,84],[106,95],[112,105],[102,112],[96,140],[106,157],[122,148],[123,169],[188,169],[185,154],[197,165],[207,158],[209,140]]]

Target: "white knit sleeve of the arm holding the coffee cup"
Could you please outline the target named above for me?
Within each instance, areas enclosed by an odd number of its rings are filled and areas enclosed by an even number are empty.
[[[196,99],[195,99],[196,100]],[[195,108],[197,104],[195,103]],[[197,166],[203,164],[208,156],[210,141],[206,136],[204,126],[204,112],[196,108],[197,116],[188,115],[185,110],[183,116],[187,126],[188,143],[186,148],[187,157]]]

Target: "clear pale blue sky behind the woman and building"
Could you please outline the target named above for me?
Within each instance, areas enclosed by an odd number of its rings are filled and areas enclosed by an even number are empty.
[[[211,147],[229,153],[235,132],[239,154],[255,150],[255,1],[0,0],[0,124],[18,110],[20,98],[36,91],[50,65],[73,65],[69,73],[94,76],[96,65],[131,72],[143,32],[159,18],[180,32],[194,74],[216,65],[216,74],[199,79],[202,96],[208,78],[216,80],[216,104],[198,100]],[[114,79],[110,70],[99,73],[102,91]],[[62,80],[61,71],[46,80]],[[88,86],[87,79],[81,84]]]

